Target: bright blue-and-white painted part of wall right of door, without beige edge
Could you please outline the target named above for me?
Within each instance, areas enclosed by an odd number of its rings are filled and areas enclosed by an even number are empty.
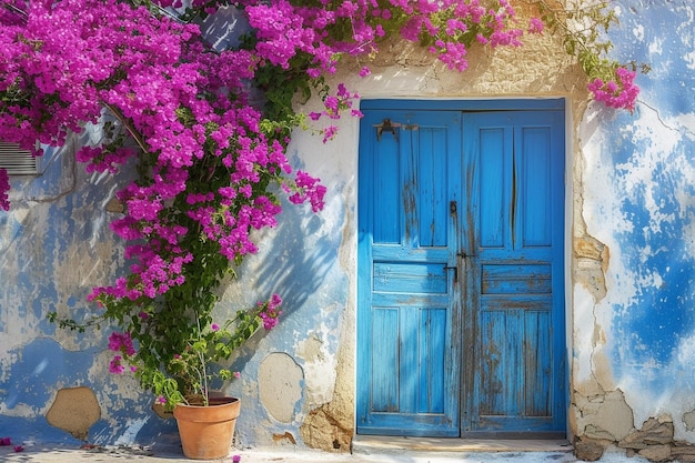
[[[679,387],[695,386],[693,359],[684,355],[695,334],[694,10],[689,1],[623,1],[618,8],[615,54],[647,62],[652,71],[637,77],[634,114],[596,110],[602,123],[590,155],[611,194],[602,201],[601,190],[590,192],[596,195],[590,207],[604,212],[590,228],[600,239],[610,234],[606,241],[620,250],[612,258],[621,272],[608,288],[608,298],[623,292],[612,306],[616,376],[643,375],[646,390],[661,395],[673,387],[673,374]]]

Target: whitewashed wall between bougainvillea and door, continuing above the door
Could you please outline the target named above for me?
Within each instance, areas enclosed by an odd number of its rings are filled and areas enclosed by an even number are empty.
[[[333,85],[344,82],[363,99],[564,97],[570,120],[580,118],[586,102],[585,78],[552,38],[531,38],[515,50],[473,50],[471,68],[464,73],[450,71],[416,46],[394,41],[382,50],[383,57],[369,63],[371,76],[356,77],[365,63],[348,61]],[[313,100],[298,108],[316,111],[320,103]],[[334,140],[323,144],[321,137],[296,132],[290,147],[295,162],[328,187],[325,210],[315,217],[285,210],[279,228],[268,233],[266,243],[272,243],[265,246],[268,253],[246,262],[244,269],[250,279],[242,283],[250,290],[286,279],[289,294],[298,299],[290,301],[292,312],[282,331],[265,336],[256,346],[262,349],[245,364],[243,386],[231,385],[250,402],[239,422],[241,442],[272,443],[272,435],[274,443],[285,443],[298,441],[299,434],[306,445],[345,451],[354,434],[359,121],[343,118],[330,123],[339,127]],[[294,234],[294,230],[305,233]],[[299,294],[292,295],[293,291]],[[313,353],[316,348],[319,355]],[[255,365],[273,351],[288,353],[302,369],[303,393],[292,422],[282,423],[269,414],[255,383]],[[246,426],[245,420],[256,425]]]

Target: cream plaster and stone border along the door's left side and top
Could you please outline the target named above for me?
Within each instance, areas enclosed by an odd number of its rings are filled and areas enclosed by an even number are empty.
[[[513,50],[490,52],[474,48],[470,53],[470,68],[463,73],[449,70],[416,46],[400,41],[382,46],[383,56],[376,62],[346,60],[343,70],[333,83],[345,82],[348,88],[362,98],[527,98],[567,97],[570,119],[578,119],[586,102],[586,79],[581,70],[566,57],[560,43],[548,37],[528,38],[526,46]],[[363,66],[371,67],[371,76],[356,77]],[[316,110],[315,101],[300,107],[306,112]],[[335,121],[331,121],[335,123]],[[338,345],[330,352],[330,366],[336,371],[332,394],[318,401],[306,397],[302,415],[298,415],[303,443],[324,450],[344,451],[354,433],[355,409],[355,275],[356,275],[356,171],[357,171],[357,121],[338,121],[338,137],[323,145],[321,140],[308,133],[298,133],[291,147],[329,185],[329,207],[320,215],[321,228],[328,230],[335,221],[342,227],[341,253],[335,261],[348,281],[330,282],[340,285],[346,294],[341,306],[341,324]],[[572,135],[570,137],[572,139]],[[570,188],[571,190],[571,188]],[[340,198],[340,199],[339,199]],[[339,209],[334,209],[340,207]],[[326,214],[328,217],[324,217]],[[304,360],[301,364],[306,364]],[[325,381],[325,370],[305,370],[305,386]],[[316,397],[318,399],[318,397]],[[263,432],[261,430],[261,432]]]

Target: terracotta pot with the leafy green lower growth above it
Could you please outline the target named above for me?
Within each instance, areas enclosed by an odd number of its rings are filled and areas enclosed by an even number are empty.
[[[151,305],[148,312],[124,323],[131,331],[110,335],[109,348],[115,352],[110,371],[132,371],[154,393],[157,405],[173,411],[187,457],[224,457],[230,451],[241,402],[214,393],[215,381],[240,375],[222,362],[261,324],[265,330],[275,326],[280,304],[280,296],[273,294],[266,302],[238,311],[221,325],[211,322],[211,305],[180,312],[175,306],[161,305],[155,310]],[[140,349],[135,350],[133,339]]]

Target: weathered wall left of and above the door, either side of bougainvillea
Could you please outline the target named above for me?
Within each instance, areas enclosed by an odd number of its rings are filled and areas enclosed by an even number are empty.
[[[586,97],[581,72],[548,38],[532,38],[516,50],[473,50],[471,69],[463,74],[449,71],[416,47],[394,42],[384,44],[384,50],[383,59],[372,63],[371,77],[355,78],[361,63],[350,61],[334,83],[346,81],[366,98],[566,95],[576,102],[571,104],[575,117]],[[309,112],[316,104],[314,100],[301,109]],[[290,148],[294,167],[319,175],[329,188],[325,210],[314,215],[285,204],[278,228],[263,238],[263,251],[240,269],[240,281],[223,288],[220,311],[233,312],[272,292],[284,299],[280,326],[259,333],[233,360],[242,378],[225,391],[242,399],[236,426],[240,445],[350,449],[357,381],[359,133],[356,120],[339,123],[340,133],[329,144],[298,133]],[[75,334],[46,321],[52,310],[78,319],[85,315],[93,309],[84,302],[90,288],[112,281],[123,265],[122,243],[108,229],[118,213],[108,211],[117,185],[84,174],[70,154],[68,148],[53,177],[13,179],[14,209],[0,219],[0,392],[6,397],[0,423],[23,433],[16,441],[74,435],[94,443],[150,443],[154,437],[161,442],[171,436],[173,423],[149,410],[150,397],[128,376],[108,374],[108,330]],[[60,180],[62,174],[67,174],[64,180]],[[59,194],[46,193],[58,190],[61,182],[69,185]],[[46,199],[32,200],[33,190]],[[77,426],[60,419],[57,411],[64,410],[62,399],[53,407],[59,396],[87,393],[75,390],[81,386],[94,392],[101,409],[95,413],[92,404],[80,411],[85,416],[81,423],[97,416],[89,430],[84,429],[89,424]],[[69,393],[59,394],[60,390]]]

